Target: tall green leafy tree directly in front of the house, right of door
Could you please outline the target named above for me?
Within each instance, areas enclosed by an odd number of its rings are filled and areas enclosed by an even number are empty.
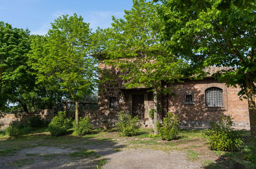
[[[129,88],[152,89],[154,99],[154,133],[157,133],[157,101],[169,89],[162,81],[173,82],[182,78],[183,60],[165,52],[155,31],[160,24],[152,2],[133,1],[131,10],[125,10],[124,19],[112,18],[112,27],[106,30],[107,64],[118,67]],[[166,57],[168,56],[168,57]]]

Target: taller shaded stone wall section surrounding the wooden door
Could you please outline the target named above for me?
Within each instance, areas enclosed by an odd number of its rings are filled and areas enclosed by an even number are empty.
[[[148,93],[144,88],[126,90],[124,87],[124,81],[119,77],[120,70],[110,66],[106,66],[101,62],[99,64],[100,70],[102,70],[99,79],[102,80],[102,76],[107,76],[109,80],[99,84],[99,123],[102,120],[110,120],[110,125],[114,125],[117,122],[117,114],[119,111],[124,113],[132,113],[132,95],[140,94],[144,95],[144,119],[141,120],[146,126],[152,126],[152,119],[149,117],[149,110],[153,108],[152,93]],[[110,108],[110,97],[116,98],[116,108]]]

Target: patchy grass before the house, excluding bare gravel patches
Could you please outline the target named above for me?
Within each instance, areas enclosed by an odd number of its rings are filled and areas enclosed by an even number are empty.
[[[27,130],[27,129],[26,129]],[[74,153],[68,154],[25,154],[34,160],[53,160],[53,159],[82,159],[90,158],[93,167],[101,168],[100,164],[107,162],[102,159],[94,151],[86,150],[86,145],[99,145],[110,147],[113,151],[124,151],[126,149],[151,149],[161,150],[167,153],[171,151],[181,151],[188,154],[188,159],[191,161],[201,162],[205,168],[232,168],[233,166],[241,166],[243,168],[256,168],[255,160],[255,140],[251,139],[249,132],[243,132],[245,138],[245,145],[241,152],[222,152],[211,151],[204,137],[205,130],[180,130],[177,140],[166,141],[162,140],[160,136],[153,134],[153,129],[140,129],[140,135],[133,137],[118,137],[114,128],[103,130],[96,128],[91,134],[86,136],[74,136],[72,134],[60,137],[52,137],[47,128],[33,129],[25,132],[23,135],[17,137],[6,137],[4,132],[0,131],[0,156],[7,159],[8,156],[18,155],[19,150],[38,147],[50,146],[61,147],[77,150]],[[122,145],[115,146],[115,144]],[[206,153],[207,154],[206,154]],[[199,156],[200,155],[200,156]],[[25,157],[26,157],[25,156]],[[36,157],[34,157],[36,156]],[[218,156],[218,159],[216,159]],[[200,157],[200,158],[199,158]],[[204,158],[206,157],[206,158]],[[211,158],[208,158],[211,157]],[[7,161],[6,161],[7,162]],[[12,162],[11,166],[27,165],[28,159],[22,161]],[[31,162],[31,161],[30,161]],[[36,161],[35,161],[36,163]]]

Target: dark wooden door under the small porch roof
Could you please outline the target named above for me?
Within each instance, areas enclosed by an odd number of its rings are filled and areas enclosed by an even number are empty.
[[[132,115],[144,119],[144,95],[132,95]]]

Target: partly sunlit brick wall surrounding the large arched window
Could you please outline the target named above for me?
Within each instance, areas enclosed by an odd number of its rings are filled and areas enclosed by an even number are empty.
[[[220,115],[231,115],[234,122],[241,128],[249,128],[247,100],[241,101],[238,96],[240,89],[227,88],[213,78],[203,80],[187,80],[184,83],[174,83],[174,96],[168,97],[169,111],[178,114],[182,124],[187,126],[209,126],[209,121],[219,120]],[[207,108],[205,106],[205,90],[218,87],[223,90],[222,108]],[[193,96],[193,104],[185,103],[185,95]]]

